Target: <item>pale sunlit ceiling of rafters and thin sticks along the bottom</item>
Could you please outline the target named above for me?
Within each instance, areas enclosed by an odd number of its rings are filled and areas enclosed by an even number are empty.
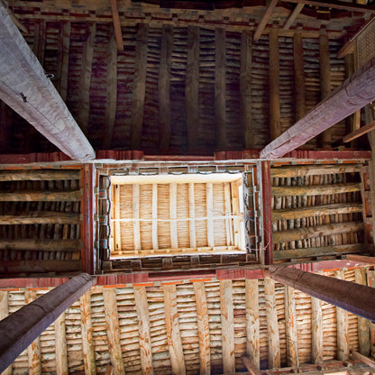
[[[325,275],[366,283],[366,271]],[[1,290],[1,316],[47,291]],[[244,370],[246,353],[261,369],[344,361],[349,349],[369,355],[368,322],[325,302],[312,310],[312,303],[271,279],[96,286],[60,316],[59,332],[50,325],[6,373],[27,374],[30,361],[43,374],[104,373],[109,362],[114,373],[228,374]]]

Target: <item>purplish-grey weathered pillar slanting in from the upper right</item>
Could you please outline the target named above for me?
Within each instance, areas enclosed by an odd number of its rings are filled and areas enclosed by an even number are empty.
[[[277,159],[339,123],[345,117],[375,99],[375,58],[346,79],[341,87],[316,105],[287,132],[270,142],[262,151],[262,159]]]

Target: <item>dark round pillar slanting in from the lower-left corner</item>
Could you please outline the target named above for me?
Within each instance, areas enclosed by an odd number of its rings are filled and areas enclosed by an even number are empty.
[[[0,321],[0,372],[13,363],[95,281],[87,274],[76,276]],[[9,330],[9,327],[13,329]]]

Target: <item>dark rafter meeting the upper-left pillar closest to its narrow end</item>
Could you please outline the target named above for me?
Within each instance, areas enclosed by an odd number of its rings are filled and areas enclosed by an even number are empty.
[[[96,23],[87,23],[86,40],[82,51],[81,74],[78,92],[78,124],[83,133],[87,133],[90,114],[90,86],[93,64],[93,53],[96,36]]]

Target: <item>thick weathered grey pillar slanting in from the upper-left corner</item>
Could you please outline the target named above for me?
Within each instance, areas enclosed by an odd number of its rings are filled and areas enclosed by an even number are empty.
[[[93,148],[4,5],[0,5],[0,50],[0,99],[70,158],[95,159]]]

